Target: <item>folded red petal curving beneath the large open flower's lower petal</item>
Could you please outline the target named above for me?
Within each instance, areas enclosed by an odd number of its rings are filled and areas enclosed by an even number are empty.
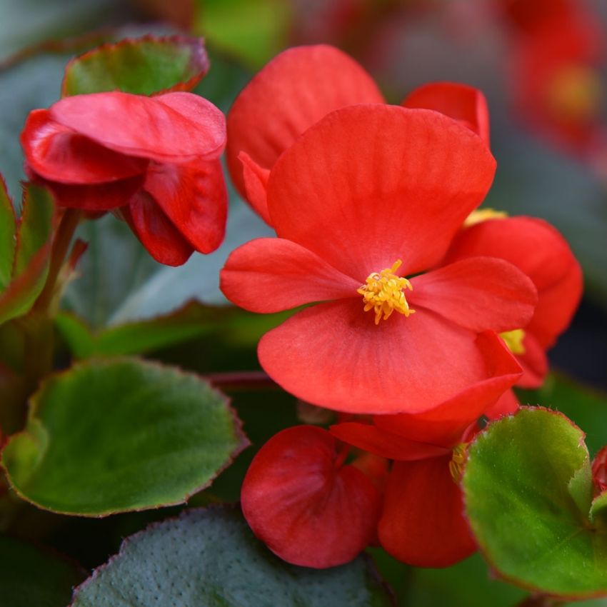
[[[403,438],[449,448],[461,442],[468,426],[521,377],[516,358],[495,333],[482,333],[476,345],[486,361],[485,378],[431,411],[375,416],[376,426]]]

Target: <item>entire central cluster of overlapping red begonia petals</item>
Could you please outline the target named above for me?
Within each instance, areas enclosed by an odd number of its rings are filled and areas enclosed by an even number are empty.
[[[543,380],[581,294],[573,254],[535,219],[463,227],[495,169],[471,87],[431,84],[387,106],[347,56],[301,47],[251,81],[228,130],[234,181],[278,238],[231,254],[224,294],[260,313],[313,303],[266,333],[261,365],[306,401],[372,416],[266,443],[241,494],[251,528],[303,566],[374,541],[416,566],[461,560],[475,543],[453,461],[480,416],[518,406],[513,384]],[[357,289],[396,259],[415,313],[376,325]],[[514,356],[498,333],[521,328]],[[354,467],[348,448],[361,450]]]

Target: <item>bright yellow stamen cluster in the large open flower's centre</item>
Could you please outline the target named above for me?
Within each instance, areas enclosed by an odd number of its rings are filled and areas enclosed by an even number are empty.
[[[403,289],[413,291],[413,286],[407,279],[394,274],[402,263],[400,259],[397,259],[391,268],[369,274],[365,281],[366,284],[363,284],[360,289],[356,289],[356,293],[363,296],[365,311],[375,311],[376,325],[379,324],[382,316],[385,321],[395,310],[405,316],[415,312],[409,308],[403,293]]]

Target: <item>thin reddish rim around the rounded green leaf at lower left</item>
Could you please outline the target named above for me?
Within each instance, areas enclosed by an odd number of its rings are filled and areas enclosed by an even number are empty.
[[[36,390],[36,392],[34,394],[32,394],[32,396],[30,396],[30,398],[29,398],[27,423],[29,423],[30,420],[39,421],[39,418],[36,416],[36,413],[39,411],[38,398],[40,396],[42,389],[44,387],[46,387],[47,383],[49,383],[51,381],[58,381],[59,379],[61,379],[61,377],[63,377],[67,373],[74,371],[74,369],[79,369],[79,368],[83,368],[83,367],[86,368],[87,366],[93,366],[96,363],[109,363],[109,362],[112,362],[112,363],[120,363],[120,362],[141,363],[143,366],[146,366],[148,368],[159,368],[164,371],[170,370],[178,376],[194,377],[196,379],[204,381],[205,383],[208,383],[209,389],[212,392],[219,395],[226,405],[226,408],[230,414],[232,422],[234,423],[234,434],[236,436],[236,441],[238,441],[238,444],[229,454],[229,457],[228,457],[226,463],[224,463],[223,466],[218,468],[216,470],[216,472],[209,478],[209,480],[206,483],[203,483],[201,486],[198,486],[198,487],[192,489],[192,491],[190,491],[189,493],[186,493],[184,498],[182,498],[180,500],[162,503],[157,506],[145,506],[144,508],[128,508],[126,510],[108,510],[108,511],[103,511],[101,513],[96,513],[96,514],[74,513],[74,512],[68,512],[68,511],[62,511],[62,510],[55,510],[54,508],[48,508],[47,506],[43,506],[42,504],[37,503],[36,501],[31,500],[30,498],[24,496],[24,494],[21,493],[21,491],[19,491],[19,488],[17,488],[15,486],[15,484],[13,483],[13,479],[11,478],[9,471],[6,469],[6,466],[4,466],[4,449],[7,446],[9,446],[9,444],[12,441],[14,441],[15,438],[22,436],[22,435],[27,435],[28,431],[26,429],[24,429],[24,430],[21,430],[19,432],[12,434],[11,436],[9,436],[8,440],[6,442],[4,442],[4,444],[2,445],[2,449],[0,451],[0,469],[2,471],[4,471],[4,476],[6,477],[6,480],[9,481],[9,486],[11,487],[11,489],[16,493],[17,496],[19,496],[19,498],[21,498],[26,503],[31,503],[33,506],[36,506],[36,508],[40,508],[41,510],[44,510],[46,512],[52,512],[54,514],[64,514],[65,516],[79,516],[81,518],[105,518],[106,516],[112,516],[114,514],[125,513],[125,512],[144,512],[147,510],[158,510],[159,508],[169,508],[170,506],[181,506],[182,504],[186,504],[192,496],[196,495],[196,493],[200,493],[200,491],[204,491],[204,489],[209,488],[214,483],[215,479],[222,472],[224,472],[227,468],[229,468],[229,466],[231,466],[232,463],[234,463],[234,460],[240,455],[240,453],[242,453],[247,447],[251,446],[251,441],[249,441],[249,437],[246,436],[246,433],[244,432],[242,420],[239,418],[238,414],[236,413],[236,409],[234,409],[234,407],[232,406],[231,398],[229,398],[229,396],[226,396],[226,394],[221,392],[221,390],[218,390],[214,385],[212,385],[208,380],[206,380],[206,378],[204,378],[204,376],[201,376],[197,373],[191,373],[189,371],[184,371],[183,369],[181,369],[177,366],[164,365],[164,364],[156,362],[156,361],[149,361],[144,358],[141,358],[140,356],[106,356],[106,357],[95,356],[95,357],[87,358],[86,361],[78,361],[78,362],[74,363],[72,366],[70,366],[69,368],[62,369],[61,371],[56,371],[55,373],[50,373],[48,376],[46,376],[44,378],[43,383],[41,384],[41,386],[39,386],[39,388]]]

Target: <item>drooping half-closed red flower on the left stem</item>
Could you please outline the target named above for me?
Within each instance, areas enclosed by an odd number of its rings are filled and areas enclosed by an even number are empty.
[[[190,93],[76,95],[29,115],[26,170],[59,206],[114,210],[150,254],[183,264],[224,238],[221,111]]]

